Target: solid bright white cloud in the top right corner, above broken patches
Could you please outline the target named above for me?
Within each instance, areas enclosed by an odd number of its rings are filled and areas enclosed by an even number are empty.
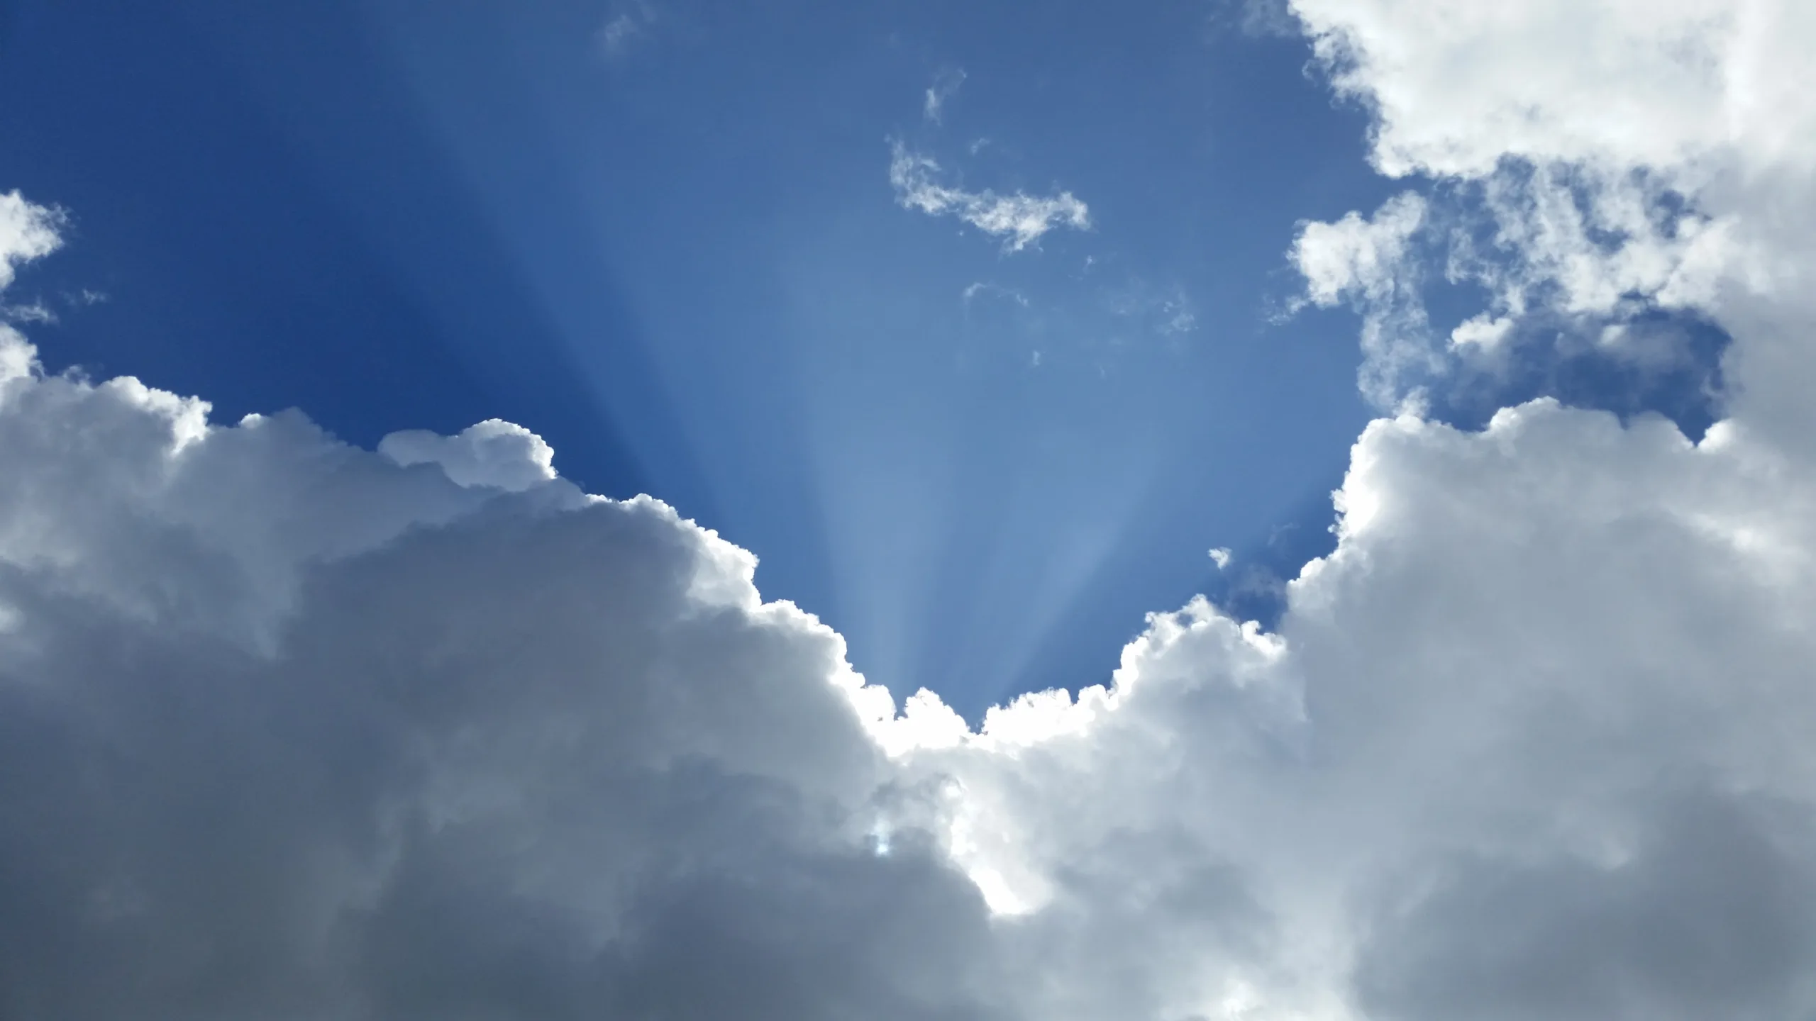
[[[1378,111],[1389,174],[1507,156],[1696,176],[1816,164],[1801,0],[1293,0],[1340,89]]]

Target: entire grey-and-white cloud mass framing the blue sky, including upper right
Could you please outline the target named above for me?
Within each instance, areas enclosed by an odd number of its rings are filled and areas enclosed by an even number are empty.
[[[1277,634],[1193,601],[970,732],[527,431],[212,425],[0,325],[0,1016],[1816,1016],[1809,15],[1295,11],[1447,189],[1293,249],[1364,380],[1691,309],[1702,440],[1400,401]]]

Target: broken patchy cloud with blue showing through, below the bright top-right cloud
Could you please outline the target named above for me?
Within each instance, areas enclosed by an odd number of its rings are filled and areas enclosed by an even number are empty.
[[[1429,200],[1402,193],[1367,220],[1349,213],[1300,225],[1289,258],[1306,291],[1293,311],[1347,303],[1362,312],[1360,387],[1393,409],[1449,369],[1504,362],[1522,316],[1620,325],[1707,307],[1723,280],[1752,274],[1736,220],[1676,198],[1645,176],[1560,164],[1498,167]],[[1489,294],[1489,309],[1455,327],[1447,349],[1435,343],[1424,302],[1433,262],[1451,283]]]

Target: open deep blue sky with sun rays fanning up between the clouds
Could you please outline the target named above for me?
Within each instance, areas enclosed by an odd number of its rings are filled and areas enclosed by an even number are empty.
[[[1329,541],[1355,323],[1271,314],[1295,222],[1395,185],[1226,7],[0,11],[0,189],[71,216],[11,294],[51,369],[361,445],[519,421],[973,718],[1108,679],[1193,592],[1266,609],[1251,572]],[[1010,253],[904,209],[892,142],[1093,225]]]

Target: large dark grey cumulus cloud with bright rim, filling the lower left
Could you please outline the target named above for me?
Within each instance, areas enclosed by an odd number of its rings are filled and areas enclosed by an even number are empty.
[[[875,854],[843,643],[741,550],[0,387],[7,1017],[982,1012],[982,899]]]

